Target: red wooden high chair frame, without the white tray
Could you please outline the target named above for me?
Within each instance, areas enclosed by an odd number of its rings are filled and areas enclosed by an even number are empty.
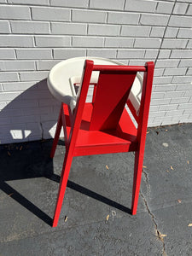
[[[87,103],[85,100],[93,71],[99,71],[100,74],[95,84],[93,102]],[[127,100],[137,72],[144,73],[139,111],[134,108],[130,100]],[[59,220],[73,157],[79,155],[135,151],[131,212],[137,213],[153,75],[154,62],[147,62],[144,67],[94,65],[94,62],[89,60],[84,62],[76,107],[72,113],[67,104],[61,103],[50,154],[53,158],[63,126],[66,154],[53,227]],[[125,110],[125,104],[136,119],[137,128]]]

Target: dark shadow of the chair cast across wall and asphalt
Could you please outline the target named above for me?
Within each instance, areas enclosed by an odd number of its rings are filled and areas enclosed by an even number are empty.
[[[49,108],[51,113],[46,113],[46,108]],[[23,119],[20,118],[20,112],[26,113]],[[49,94],[46,79],[25,90],[0,113],[0,120],[7,120],[7,124],[3,126],[5,129],[0,134],[1,140],[3,142],[3,138],[6,138],[9,143],[12,143],[0,146],[0,189],[49,225],[52,225],[52,218],[12,188],[8,182],[34,177],[46,177],[56,183],[60,182],[60,176],[54,173],[53,160],[49,158],[52,139],[48,139],[49,131],[55,125],[58,113],[59,103]],[[17,117],[18,122],[16,122]],[[29,119],[31,123],[26,123]],[[15,137],[12,131],[20,131],[20,137]],[[38,142],[28,142],[34,138],[38,138]],[[65,146],[61,140],[59,144]],[[78,183],[68,180],[67,187],[131,214],[131,209]]]

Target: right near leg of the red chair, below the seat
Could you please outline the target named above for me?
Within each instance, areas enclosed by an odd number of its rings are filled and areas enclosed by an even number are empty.
[[[139,151],[135,153],[135,166],[134,166],[134,177],[133,177],[133,189],[132,189],[132,215],[137,213],[137,203],[139,197],[140,183],[142,179],[143,170],[143,154]]]

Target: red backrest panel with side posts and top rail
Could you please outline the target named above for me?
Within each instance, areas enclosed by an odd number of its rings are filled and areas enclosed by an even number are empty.
[[[90,85],[90,77],[93,71],[100,71],[100,74],[96,85],[96,96],[90,119],[90,131],[111,130],[117,127],[121,113],[125,108],[131,86],[139,71],[144,72],[141,107],[138,116],[134,113],[133,108],[131,112],[137,120],[138,129],[139,126],[143,124],[143,120],[145,121],[144,123],[146,123],[146,118],[143,119],[143,114],[145,117],[147,115],[148,121],[154,62],[148,62],[145,67],[133,67],[94,65],[93,61],[86,60],[84,62],[84,74],[82,76],[76,111],[74,113],[76,125],[80,125],[84,103]]]

